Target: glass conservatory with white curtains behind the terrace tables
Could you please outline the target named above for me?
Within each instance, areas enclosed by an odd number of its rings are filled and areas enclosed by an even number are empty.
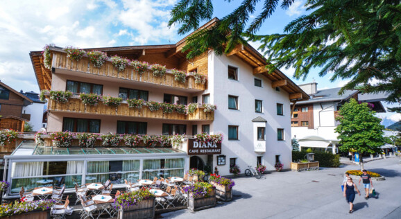
[[[65,184],[72,191],[74,182],[104,183],[108,179],[119,188],[124,179],[183,177],[189,168],[187,153],[175,148],[56,148],[28,141],[4,158],[11,184],[8,195],[17,195],[21,186]]]

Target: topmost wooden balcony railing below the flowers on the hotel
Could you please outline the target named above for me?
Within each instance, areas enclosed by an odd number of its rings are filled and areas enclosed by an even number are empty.
[[[82,60],[76,62],[67,58],[67,53],[61,52],[53,53],[52,68],[54,68],[56,71],[60,71],[57,69],[78,71],[81,73],[87,73],[97,76],[119,78],[123,80],[144,82],[153,85],[162,85],[179,89],[193,89],[196,91],[203,91],[207,87],[207,83],[205,85],[196,84],[194,76],[187,76],[187,81],[185,83],[182,83],[174,80],[175,76],[172,73],[169,73],[169,71],[167,71],[167,73],[162,78],[153,76],[153,71],[149,69],[141,76],[131,66],[128,66],[124,71],[119,72],[115,67],[113,67],[110,60],[106,61],[101,68],[96,68],[92,64],[90,64],[89,58],[87,57],[84,57]]]

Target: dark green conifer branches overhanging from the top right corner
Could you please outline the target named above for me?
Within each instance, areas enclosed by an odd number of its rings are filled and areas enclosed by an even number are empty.
[[[230,2],[230,0],[229,0]],[[262,43],[267,68],[295,68],[295,78],[306,78],[311,69],[319,75],[333,73],[330,80],[350,79],[345,89],[370,93],[388,91],[391,103],[401,100],[401,4],[399,0],[307,0],[309,15],[302,15],[284,28],[284,34],[257,35],[259,28],[279,3],[284,10],[293,0],[242,0],[216,25],[187,38],[183,50],[194,58],[209,49],[228,53],[243,37]],[[237,1],[235,2],[237,3]],[[262,8],[254,15],[256,8]],[[171,10],[169,25],[178,24],[179,34],[196,30],[212,19],[212,0],[180,0]],[[255,17],[255,19],[252,19]],[[223,46],[225,45],[225,46]],[[397,107],[400,111],[401,107]]]

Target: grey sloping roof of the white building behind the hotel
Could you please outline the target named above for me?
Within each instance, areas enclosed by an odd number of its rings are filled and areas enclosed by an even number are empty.
[[[306,104],[306,103],[321,103],[321,102],[332,102],[332,101],[341,101],[348,100],[355,94],[358,94],[359,91],[345,90],[344,94],[339,95],[341,87],[331,88],[331,89],[323,89],[318,90],[316,94],[312,95],[312,98],[305,101],[299,101],[296,104]]]

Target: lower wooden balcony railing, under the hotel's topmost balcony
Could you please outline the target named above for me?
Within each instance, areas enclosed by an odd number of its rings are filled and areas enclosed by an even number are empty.
[[[125,103],[124,103],[125,102]],[[67,103],[58,103],[49,99],[48,109],[52,112],[72,112],[79,114],[107,115],[107,116],[130,116],[148,119],[169,119],[180,121],[213,121],[214,112],[204,112],[202,107],[195,110],[193,114],[185,115],[173,112],[163,113],[161,109],[152,112],[148,107],[142,109],[130,109],[126,101],[118,107],[109,107],[99,103],[96,106],[85,106],[79,98],[70,98]]]

